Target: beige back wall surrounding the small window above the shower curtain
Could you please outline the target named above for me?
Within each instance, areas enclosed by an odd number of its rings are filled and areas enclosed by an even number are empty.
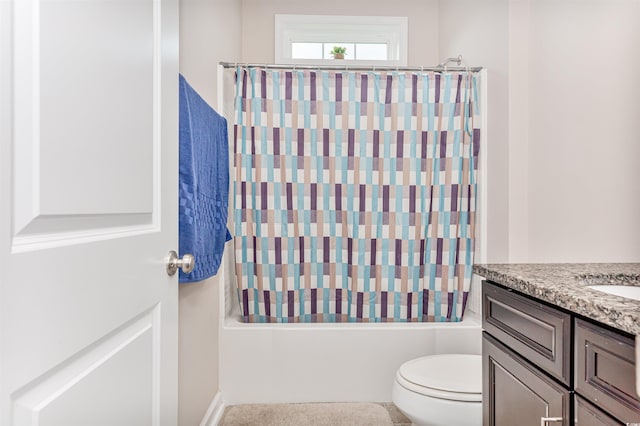
[[[243,0],[242,59],[273,63],[274,16],[364,15],[409,17],[409,65],[435,65],[438,56],[438,0]]]

